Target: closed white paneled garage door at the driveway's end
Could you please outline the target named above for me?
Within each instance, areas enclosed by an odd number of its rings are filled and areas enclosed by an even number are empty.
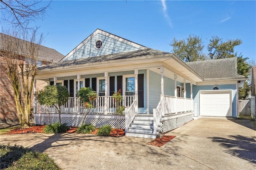
[[[200,91],[200,115],[232,117],[232,90]]]

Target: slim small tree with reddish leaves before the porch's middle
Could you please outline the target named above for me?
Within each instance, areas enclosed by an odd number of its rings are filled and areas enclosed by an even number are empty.
[[[94,101],[97,98],[97,93],[90,87],[82,87],[77,93],[76,93],[78,99],[82,103],[82,106],[85,108],[85,114],[82,121],[82,125],[84,125],[84,120],[88,113],[91,111],[91,109],[94,107]],[[87,112],[86,112],[87,111]]]

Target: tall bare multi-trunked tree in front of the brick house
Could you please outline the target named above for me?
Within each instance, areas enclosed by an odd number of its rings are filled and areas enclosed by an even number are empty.
[[[37,30],[5,31],[1,34],[2,63],[14,88],[20,127],[30,126],[31,95],[43,35]],[[38,37],[38,38],[37,38]]]

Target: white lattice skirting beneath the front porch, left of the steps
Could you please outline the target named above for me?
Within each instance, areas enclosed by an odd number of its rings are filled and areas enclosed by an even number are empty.
[[[59,122],[58,114],[34,114],[36,125],[50,125]],[[61,115],[61,122],[66,123],[70,127],[79,127],[82,125],[82,115]],[[120,128],[125,129],[125,117],[120,116]],[[115,115],[87,115],[84,123],[90,123],[95,127],[102,127],[103,125],[110,125],[116,128],[117,120]]]

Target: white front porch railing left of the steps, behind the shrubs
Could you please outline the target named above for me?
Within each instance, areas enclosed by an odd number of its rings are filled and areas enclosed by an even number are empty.
[[[124,99],[123,106],[129,108],[133,101],[134,96],[122,96]],[[105,111],[105,101],[107,102],[107,109]],[[46,106],[37,104],[37,113],[56,113],[57,110],[54,106]],[[69,97],[68,102],[65,103],[61,107],[62,113],[77,113],[77,112],[85,112],[87,110],[83,110],[83,103],[78,102],[77,97]],[[96,101],[94,102],[94,108],[91,109],[91,114],[114,114],[115,113],[115,102],[112,96],[98,96]]]

